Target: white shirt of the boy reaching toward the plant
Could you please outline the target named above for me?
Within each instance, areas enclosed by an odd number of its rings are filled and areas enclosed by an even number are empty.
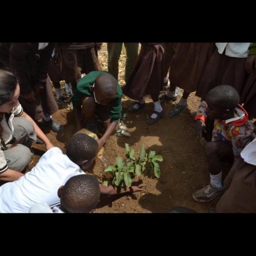
[[[84,172],[77,164],[52,147],[25,176],[0,187],[0,212],[29,212],[35,203],[56,204],[58,188],[80,174]]]

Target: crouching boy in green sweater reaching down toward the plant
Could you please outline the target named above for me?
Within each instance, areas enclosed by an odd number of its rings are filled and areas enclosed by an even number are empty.
[[[105,132],[98,140],[99,150],[106,140],[118,130],[121,117],[122,90],[118,81],[105,71],[92,71],[78,83],[72,96],[77,131],[85,119],[89,130],[94,130],[96,115],[101,119]]]

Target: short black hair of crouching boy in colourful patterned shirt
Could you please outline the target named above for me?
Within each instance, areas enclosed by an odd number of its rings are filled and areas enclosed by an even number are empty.
[[[223,110],[233,110],[240,102],[240,97],[236,89],[231,86],[217,86],[211,89],[206,98],[216,102],[216,105]]]

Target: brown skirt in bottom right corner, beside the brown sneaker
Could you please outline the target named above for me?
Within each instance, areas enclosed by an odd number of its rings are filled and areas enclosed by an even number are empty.
[[[256,213],[256,166],[240,158],[231,168],[224,185],[228,189],[216,206],[217,212]]]

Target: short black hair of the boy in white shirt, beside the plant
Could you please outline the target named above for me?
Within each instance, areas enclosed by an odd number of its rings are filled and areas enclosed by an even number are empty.
[[[98,142],[84,133],[72,136],[67,144],[66,155],[69,159],[77,163],[81,160],[92,160],[98,152]]]

